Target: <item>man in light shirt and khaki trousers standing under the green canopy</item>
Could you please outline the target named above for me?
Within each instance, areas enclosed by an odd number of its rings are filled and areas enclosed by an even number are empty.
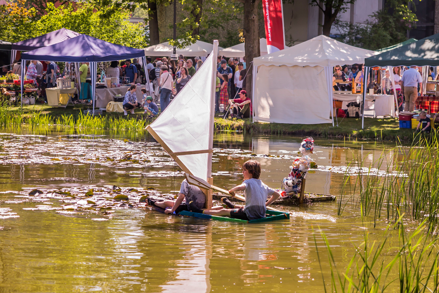
[[[404,71],[401,77],[401,91],[405,98],[405,112],[415,111],[415,102],[418,99],[418,84],[422,92],[422,77],[416,66]]]

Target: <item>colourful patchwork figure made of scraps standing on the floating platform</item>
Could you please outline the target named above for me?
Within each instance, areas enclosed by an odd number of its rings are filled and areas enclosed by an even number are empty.
[[[295,159],[291,166],[291,172],[283,178],[281,183],[281,195],[290,196],[300,192],[302,179],[305,178],[308,170],[311,168],[310,154],[314,150],[314,139],[312,137],[302,140],[299,148],[302,157]]]

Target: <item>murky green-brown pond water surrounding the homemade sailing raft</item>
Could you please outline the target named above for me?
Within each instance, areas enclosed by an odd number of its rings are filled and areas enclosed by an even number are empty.
[[[26,188],[84,185],[154,187],[175,194],[183,179],[178,167],[151,137],[131,138],[62,131],[0,134],[0,292],[323,292],[313,229],[325,232],[343,268],[354,252],[352,243],[359,244],[364,233],[381,239],[387,225],[384,219],[377,229],[370,219],[362,222],[355,201],[341,217],[337,205],[326,202],[278,206],[291,212],[290,220],[242,225],[165,216],[137,206],[114,209],[110,216],[33,210],[60,207],[66,199],[22,197]],[[241,164],[255,158],[263,168],[261,179],[279,187],[301,139],[216,135],[215,184],[240,183]],[[337,168],[355,156],[373,163],[384,148],[390,146],[316,140],[312,158],[321,169],[308,175],[306,191],[338,195],[343,174]],[[110,161],[124,152],[145,162]],[[268,154],[287,157],[262,156]],[[395,233],[388,247],[396,243]],[[317,246],[328,283],[320,236]]]

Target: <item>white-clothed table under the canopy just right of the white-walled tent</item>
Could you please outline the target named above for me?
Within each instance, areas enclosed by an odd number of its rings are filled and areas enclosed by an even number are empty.
[[[347,109],[349,102],[363,102],[363,94],[333,94],[334,100],[343,102],[342,109]],[[375,101],[374,101],[375,100]],[[395,117],[395,98],[393,95],[366,95],[365,109],[374,110],[374,117]]]

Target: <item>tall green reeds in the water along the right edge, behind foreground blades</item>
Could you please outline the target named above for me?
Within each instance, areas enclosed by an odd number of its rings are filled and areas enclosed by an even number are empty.
[[[368,167],[364,160],[354,159],[344,174],[338,215],[348,202],[354,202],[365,216],[373,215],[375,225],[382,217],[397,221],[398,212],[403,212],[411,220],[426,219],[429,232],[438,233],[438,136],[418,135],[414,141],[410,147],[398,145],[383,151]],[[384,172],[377,176],[372,167]],[[361,173],[365,168],[369,172]],[[350,198],[345,198],[347,193],[352,194]]]

